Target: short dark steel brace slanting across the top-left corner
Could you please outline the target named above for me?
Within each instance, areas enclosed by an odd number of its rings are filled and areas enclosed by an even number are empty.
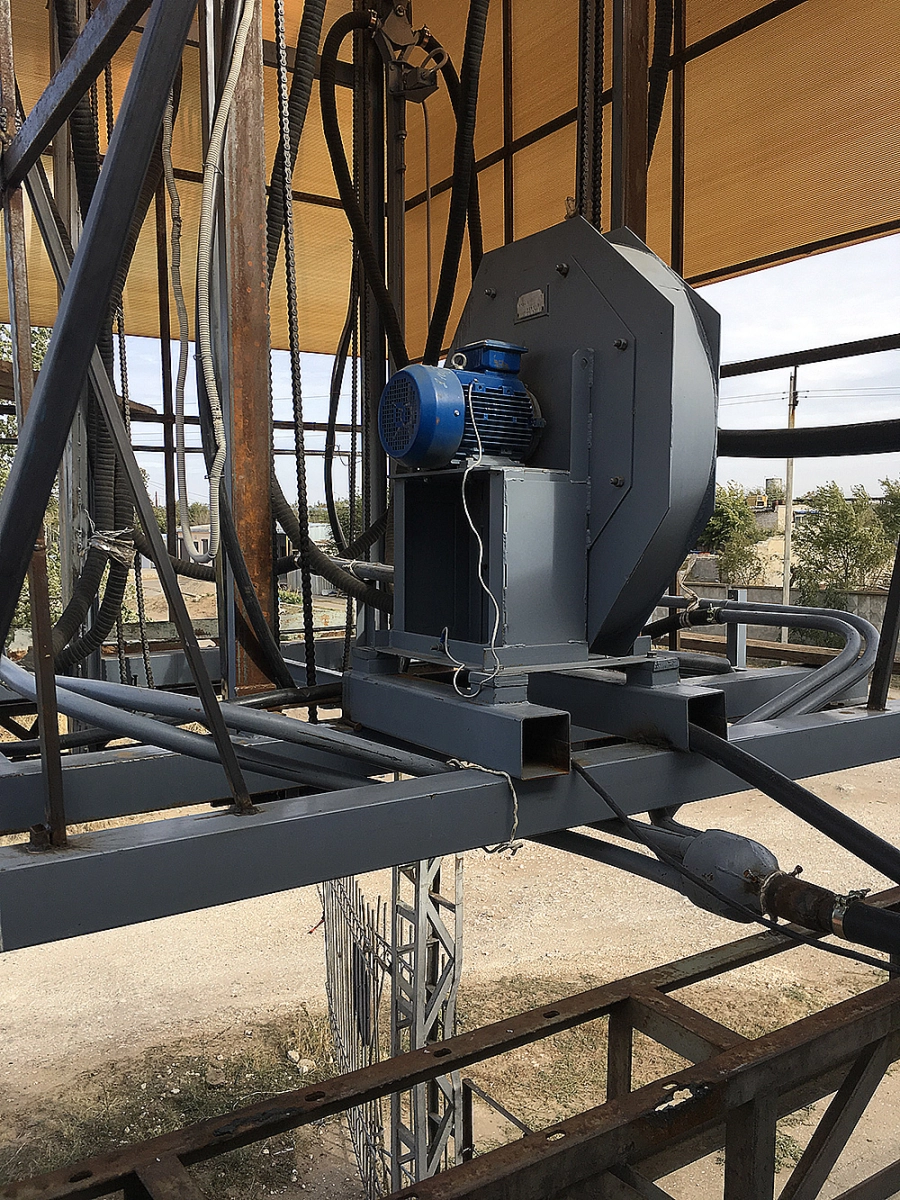
[[[150,0],[101,0],[2,156],[4,186],[18,187],[115,54]],[[10,112],[14,104],[7,104]]]

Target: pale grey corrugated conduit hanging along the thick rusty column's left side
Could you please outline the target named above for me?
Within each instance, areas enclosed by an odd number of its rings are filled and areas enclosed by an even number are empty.
[[[197,341],[200,352],[203,382],[206,388],[210,413],[212,415],[212,434],[215,439],[215,457],[209,473],[209,553],[196,557],[194,562],[210,562],[216,557],[220,541],[218,491],[224,472],[227,455],[226,427],[222,415],[222,402],[218,395],[215,360],[212,358],[212,335],[210,331],[210,280],[212,274],[212,240],[216,226],[216,176],[221,174],[222,154],[224,149],[226,126],[232,110],[234,94],[238,88],[244,52],[247,46],[256,0],[244,0],[238,32],[234,38],[232,62],[228,68],[222,95],[212,121],[206,160],[203,164],[203,191],[200,196],[200,232],[197,244]],[[179,498],[180,499],[180,498]],[[179,506],[181,506],[179,504]],[[184,514],[181,515],[184,524]],[[186,542],[187,545],[187,542]],[[196,547],[194,547],[196,550]]]

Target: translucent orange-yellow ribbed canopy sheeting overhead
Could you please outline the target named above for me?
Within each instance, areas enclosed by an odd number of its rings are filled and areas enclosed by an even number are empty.
[[[263,2],[263,36],[274,37]],[[683,0],[684,274],[694,282],[722,278],[804,253],[900,228],[900,5],[896,0]],[[16,68],[29,108],[49,77],[49,17],[36,0],[13,0]],[[349,7],[332,0],[325,30]],[[458,65],[468,5],[416,0],[414,24],[427,24]],[[293,43],[301,0],[286,0]],[[494,0],[481,68],[476,158],[485,247],[521,238],[565,215],[575,191],[577,0]],[[774,13],[774,14],[773,14]],[[506,24],[508,22],[508,24]],[[650,13],[650,28],[653,13]],[[611,5],[606,70],[611,71]],[[745,28],[745,26],[752,28]],[[510,48],[504,66],[504,38]],[[114,102],[121,98],[138,43],[132,35],[114,64]],[[349,41],[344,54],[349,55]],[[174,144],[184,229],[184,270],[194,270],[199,205],[199,52],[185,50],[181,107]],[[265,148],[277,145],[275,71],[265,71]],[[648,180],[647,240],[670,259],[672,240],[672,102],[662,115]],[[100,83],[103,112],[103,83]],[[338,89],[349,145],[349,94]],[[506,102],[504,103],[504,98]],[[428,100],[431,252],[434,286],[440,265],[452,169],[454,122],[445,90]],[[608,205],[610,107],[605,108],[605,198]],[[407,109],[407,329],[421,350],[427,319],[426,169],[421,107]],[[104,146],[101,130],[101,150]],[[314,92],[294,175],[300,330],[308,350],[334,350],[343,323],[350,263],[346,217],[322,134]],[[678,188],[676,188],[676,197]],[[608,222],[608,208],[605,222]],[[606,224],[605,224],[606,227]],[[52,324],[56,288],[35,229],[30,235],[30,292],[35,323]],[[469,286],[468,264],[456,312]],[[125,296],[131,334],[158,336],[156,230],[142,233]],[[4,294],[5,304],[5,294]],[[1,316],[1,314],[0,314]],[[174,318],[173,318],[174,319]],[[455,319],[455,317],[454,317]],[[452,329],[451,320],[450,328]],[[173,325],[173,332],[175,328]],[[287,344],[283,265],[271,296],[272,344]]]

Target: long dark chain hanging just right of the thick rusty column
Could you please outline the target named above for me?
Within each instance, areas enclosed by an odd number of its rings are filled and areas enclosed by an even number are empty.
[[[312,572],[310,568],[310,511],[306,491],[306,445],[304,438],[304,400],[300,376],[300,329],[296,304],[296,262],[294,252],[294,203],[290,170],[290,112],[288,107],[288,52],[284,35],[284,4],[275,0],[275,48],[278,76],[278,124],[282,152],[278,168],[284,194],[284,274],[287,283],[288,342],[290,348],[290,397],[294,409],[294,455],[296,458],[296,508],[300,521],[300,594],[304,601],[304,649],[306,684],[316,685],[316,634],[312,611]],[[310,706],[312,724],[317,720]]]

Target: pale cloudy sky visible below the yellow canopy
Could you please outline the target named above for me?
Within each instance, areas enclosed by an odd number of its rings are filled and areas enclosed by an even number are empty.
[[[722,319],[721,360],[780,354],[788,350],[876,337],[900,330],[900,234],[859,246],[815,254],[782,266],[713,283],[701,289]],[[127,317],[127,314],[126,314]],[[173,347],[173,359],[176,348]],[[304,413],[306,420],[324,421],[332,360],[328,355],[302,355]],[[174,367],[174,362],[173,362]],[[128,376],[132,400],[162,408],[160,343],[128,338]],[[349,365],[344,378],[340,421],[349,421]],[[725,428],[770,428],[787,422],[790,371],[724,379],[719,424]],[[840,425],[882,420],[900,415],[900,350],[869,354],[845,361],[804,366],[798,372],[797,425]],[[276,419],[289,419],[290,370],[284,352],[272,354],[272,392]],[[193,388],[193,355],[188,371],[187,412],[197,412]],[[198,445],[196,428],[188,428],[188,445]],[[150,425],[136,425],[136,443],[161,442]],[[307,433],[307,448],[320,450],[324,434]],[[293,445],[293,433],[276,431],[276,446]],[[338,448],[349,448],[347,434]],[[150,476],[150,492],[164,494],[160,455],[138,456]],[[347,494],[346,455],[335,468],[338,496]],[[276,456],[276,470],[290,499],[296,498],[296,476],[290,455]],[[323,499],[322,458],[307,462],[308,496]],[[761,486],[767,476],[785,475],[784,460],[720,458],[719,482],[736,480],[745,487]],[[794,466],[794,494],[835,480],[845,491],[862,484],[881,494],[880,481],[900,476],[900,454],[854,458],[808,458]],[[191,499],[206,497],[200,455],[188,455]]]

